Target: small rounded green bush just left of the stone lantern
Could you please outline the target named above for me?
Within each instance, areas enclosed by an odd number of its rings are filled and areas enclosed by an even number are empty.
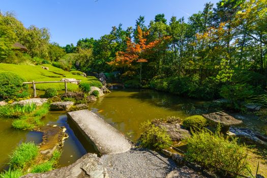
[[[186,129],[190,129],[191,131],[201,130],[207,126],[207,121],[201,115],[192,115],[185,118],[185,120],[183,121],[183,126]]]

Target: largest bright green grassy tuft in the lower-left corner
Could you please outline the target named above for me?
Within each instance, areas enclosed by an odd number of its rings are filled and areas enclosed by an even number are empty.
[[[21,143],[10,156],[9,164],[12,168],[24,168],[37,155],[38,146],[33,142]]]

